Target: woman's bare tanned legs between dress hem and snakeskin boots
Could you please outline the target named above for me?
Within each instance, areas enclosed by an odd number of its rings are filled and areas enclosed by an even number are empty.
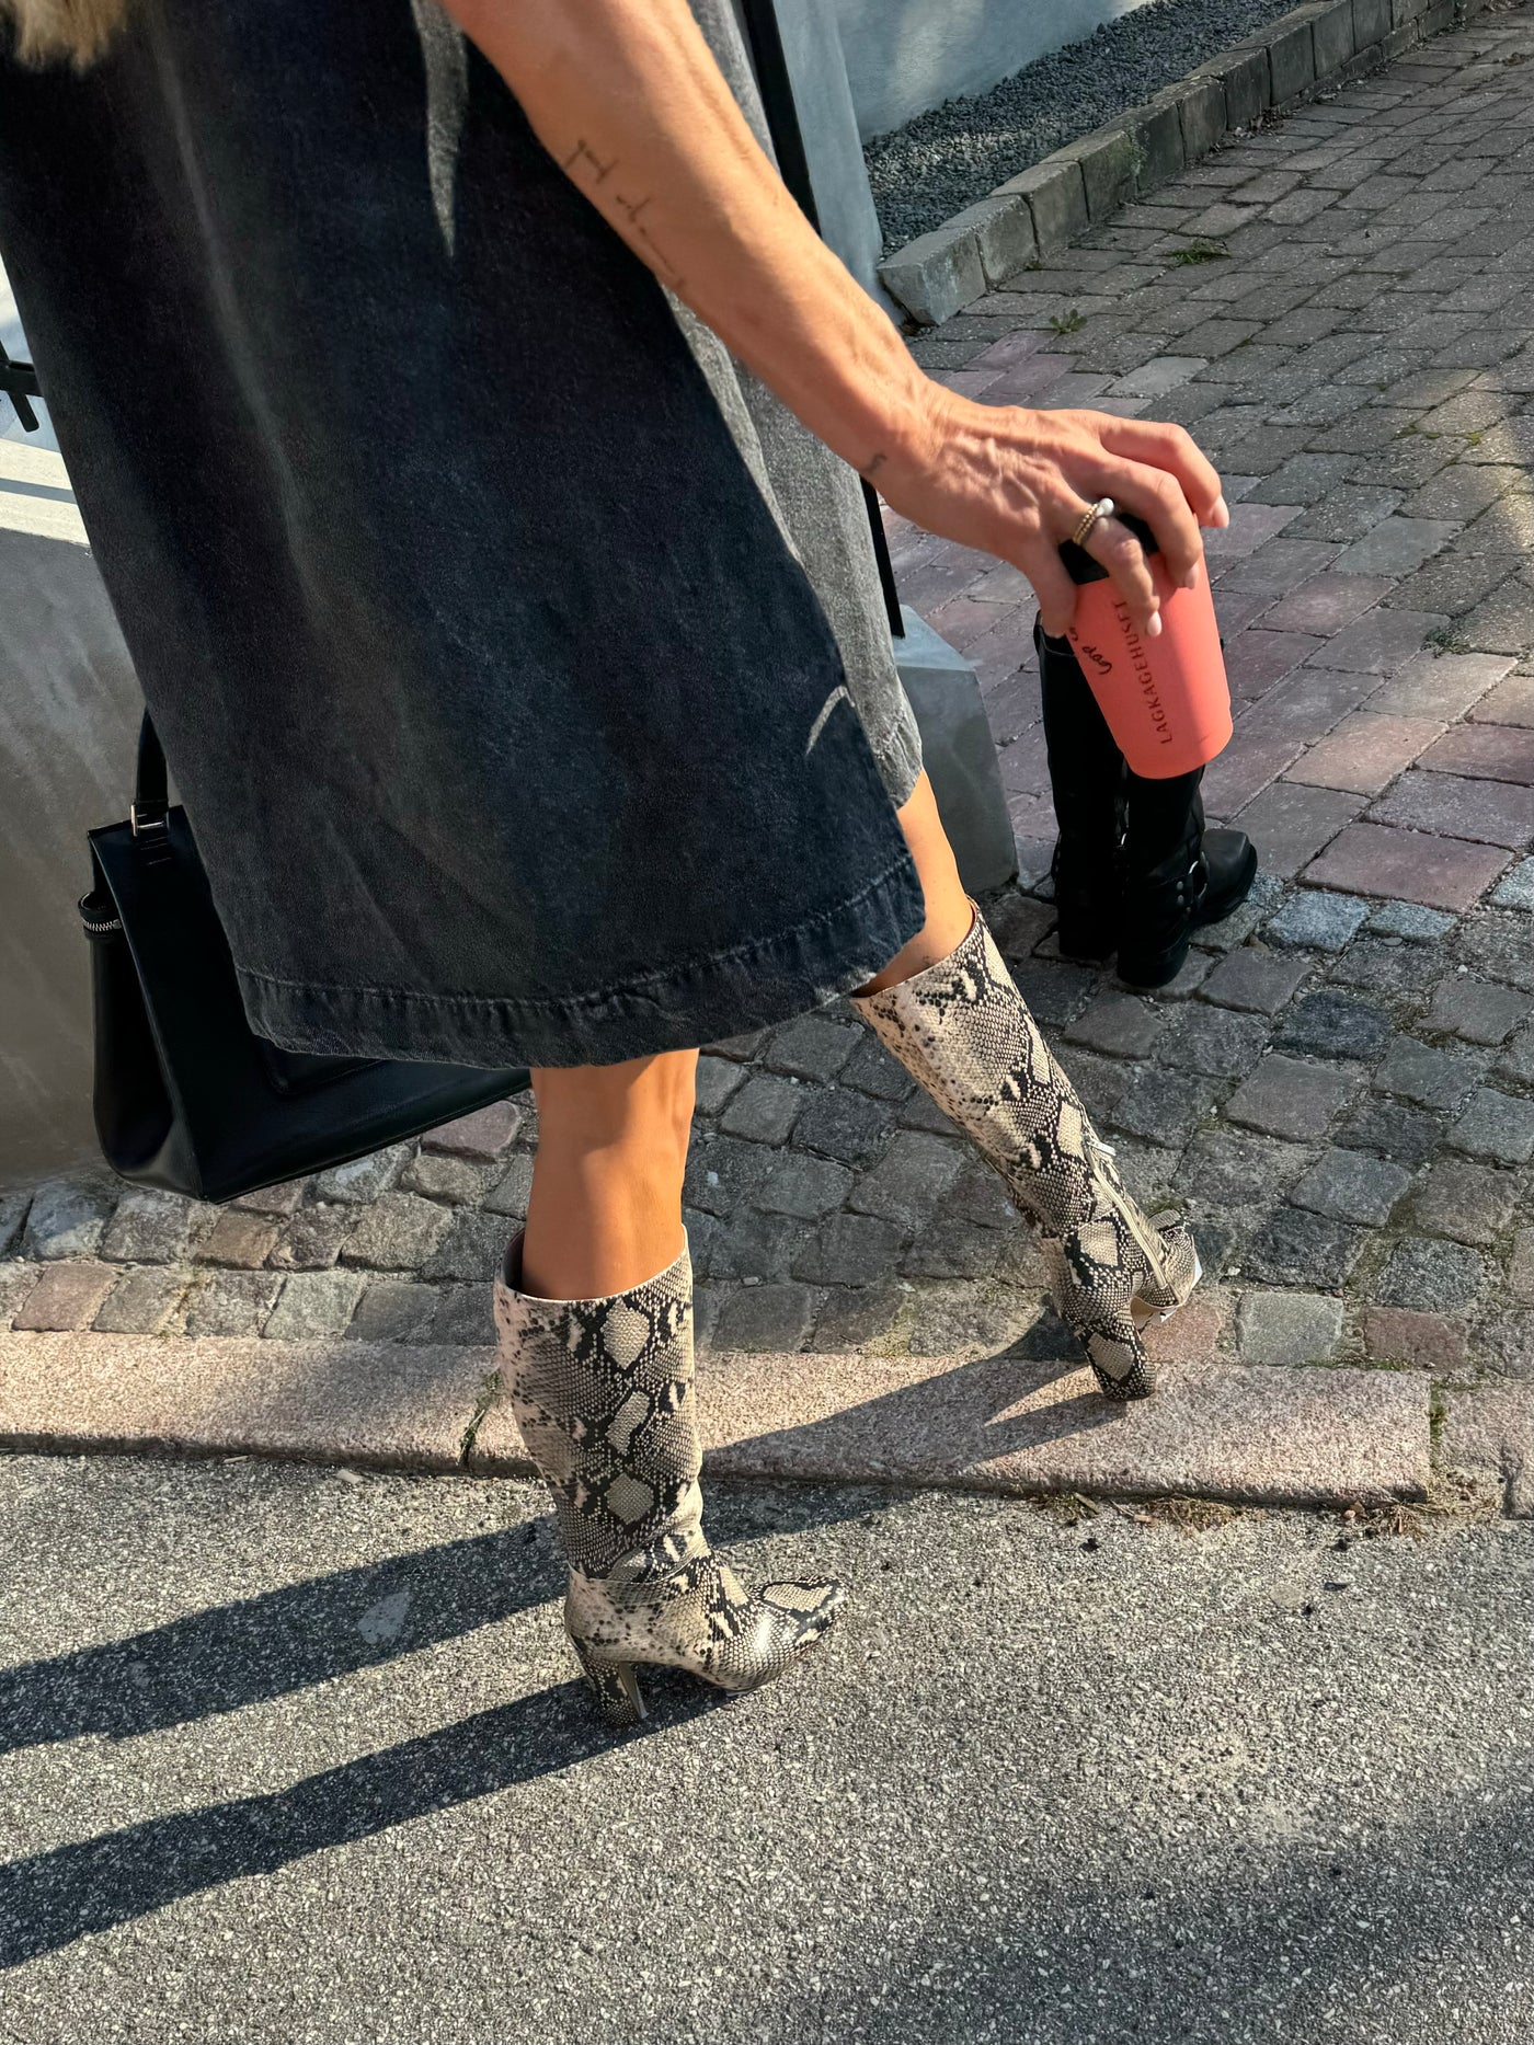
[[[969,928],[969,900],[927,775],[900,824],[927,894],[927,924],[869,990],[945,959]],[[524,1290],[542,1299],[605,1299],[677,1260],[695,1070],[695,1051],[665,1051],[624,1065],[534,1072],[538,1160],[522,1249]]]

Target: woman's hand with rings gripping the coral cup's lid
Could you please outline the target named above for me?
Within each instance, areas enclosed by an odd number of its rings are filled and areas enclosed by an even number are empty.
[[[1098,497],[1113,497],[1156,534],[1174,583],[1203,573],[1201,526],[1229,526],[1219,476],[1180,425],[1115,419],[1102,411],[1021,411],[976,405],[931,384],[908,446],[865,464],[884,501],[947,540],[1010,560],[1039,595],[1043,628],[1059,636],[1076,585],[1059,546]],[[1160,597],[1139,542],[1100,519],[1086,552],[1100,560],[1135,624],[1156,636]]]

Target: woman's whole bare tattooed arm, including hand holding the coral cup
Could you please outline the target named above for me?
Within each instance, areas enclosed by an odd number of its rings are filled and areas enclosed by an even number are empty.
[[[1012,560],[1064,632],[1059,542],[1113,497],[1174,577],[1225,524],[1182,427],[976,405],[924,376],[757,145],[685,0],[444,0],[575,186],[650,270],[843,460],[933,532]],[[1127,526],[1086,542],[1135,620],[1160,599]]]

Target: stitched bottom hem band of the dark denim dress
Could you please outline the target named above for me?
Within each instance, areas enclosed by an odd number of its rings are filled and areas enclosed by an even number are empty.
[[[239,967],[252,1029],[288,1051],[454,1065],[616,1065],[785,1022],[863,986],[922,926],[902,853],[830,910],[726,953],[548,1000],[337,988]]]

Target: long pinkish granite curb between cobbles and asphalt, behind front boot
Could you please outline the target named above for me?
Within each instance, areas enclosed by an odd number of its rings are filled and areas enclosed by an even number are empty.
[[[1422,1499],[1417,1372],[1166,1364],[1109,1407],[1086,1370],[716,1354],[700,1366],[706,1468],[794,1483],[1014,1495],[1182,1493],[1260,1505]],[[272,1456],[528,1474],[489,1348],[145,1335],[0,1335],[0,1448]]]

